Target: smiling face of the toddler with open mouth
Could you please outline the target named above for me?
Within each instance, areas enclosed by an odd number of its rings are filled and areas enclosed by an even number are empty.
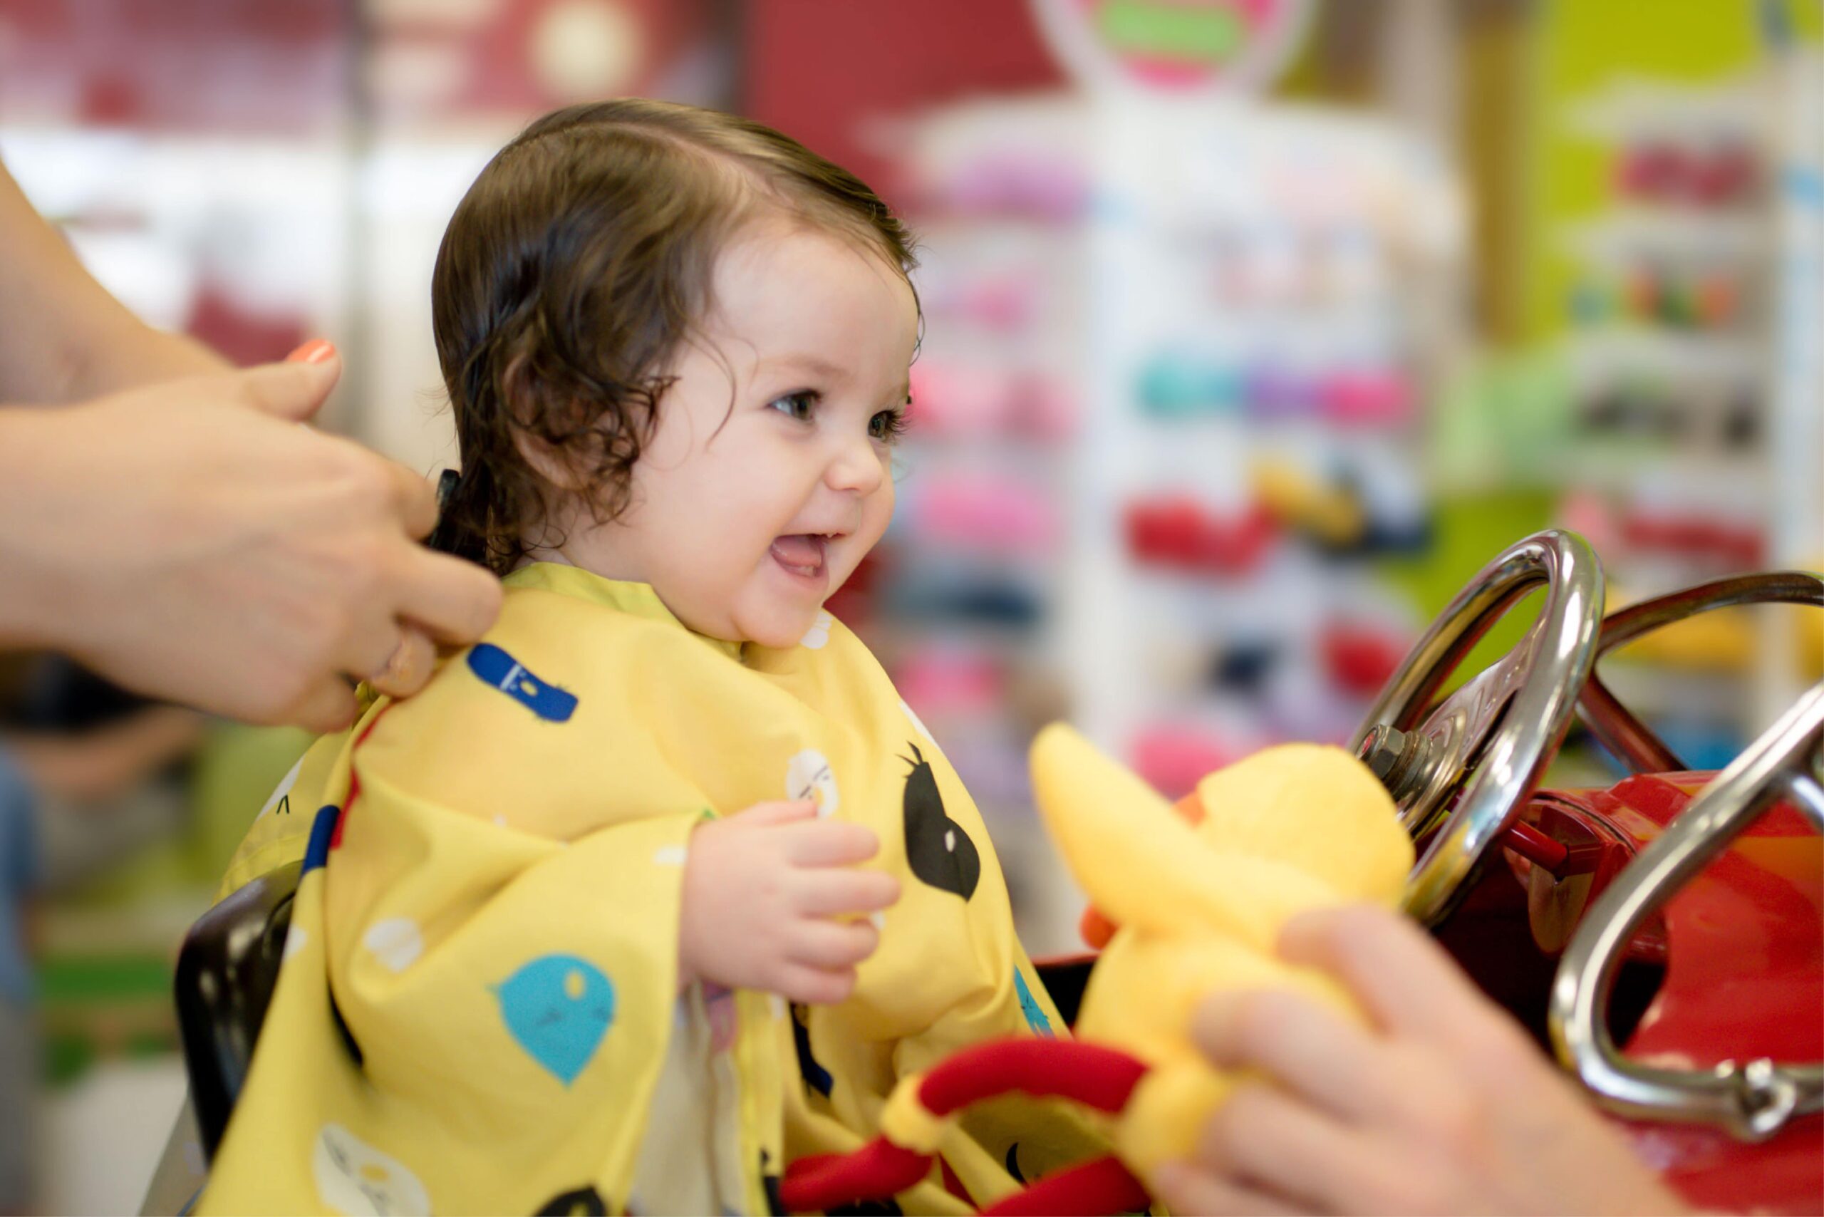
[[[679,354],[627,511],[562,555],[649,582],[717,639],[793,646],[894,513],[892,423],[917,308],[879,257],[784,224],[737,237]]]

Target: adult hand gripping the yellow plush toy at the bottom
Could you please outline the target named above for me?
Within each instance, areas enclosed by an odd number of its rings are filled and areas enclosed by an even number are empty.
[[[1293,920],[1280,954],[1332,973],[1373,1027],[1286,993],[1224,993],[1197,1038],[1259,1071],[1160,1171],[1175,1213],[1684,1213],[1594,1108],[1417,925]]]

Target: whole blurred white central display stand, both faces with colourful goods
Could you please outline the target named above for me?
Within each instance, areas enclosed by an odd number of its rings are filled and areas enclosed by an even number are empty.
[[[901,170],[927,332],[877,628],[998,839],[1029,819],[1021,684],[1167,792],[1348,733],[1419,624],[1375,567],[1432,536],[1406,301],[1459,257],[1435,157],[1341,111],[1098,95],[934,111]]]

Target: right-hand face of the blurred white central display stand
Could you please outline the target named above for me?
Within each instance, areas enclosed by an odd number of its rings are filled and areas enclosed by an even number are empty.
[[[1415,631],[1377,558],[1430,546],[1446,338],[1417,308],[1461,203],[1359,113],[1124,97],[1087,122],[1080,494],[1118,527],[1076,516],[1069,655],[1078,719],[1182,794],[1186,757],[1346,735]]]

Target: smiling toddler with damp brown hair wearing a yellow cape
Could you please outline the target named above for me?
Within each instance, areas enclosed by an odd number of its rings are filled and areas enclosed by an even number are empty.
[[[305,859],[202,1212],[766,1212],[958,1047],[1062,1035],[981,817],[823,609],[881,538],[910,237],[755,122],[540,119],[432,281],[496,628],[306,754],[226,887]],[[989,1106],[899,1202],[1102,1149]]]

